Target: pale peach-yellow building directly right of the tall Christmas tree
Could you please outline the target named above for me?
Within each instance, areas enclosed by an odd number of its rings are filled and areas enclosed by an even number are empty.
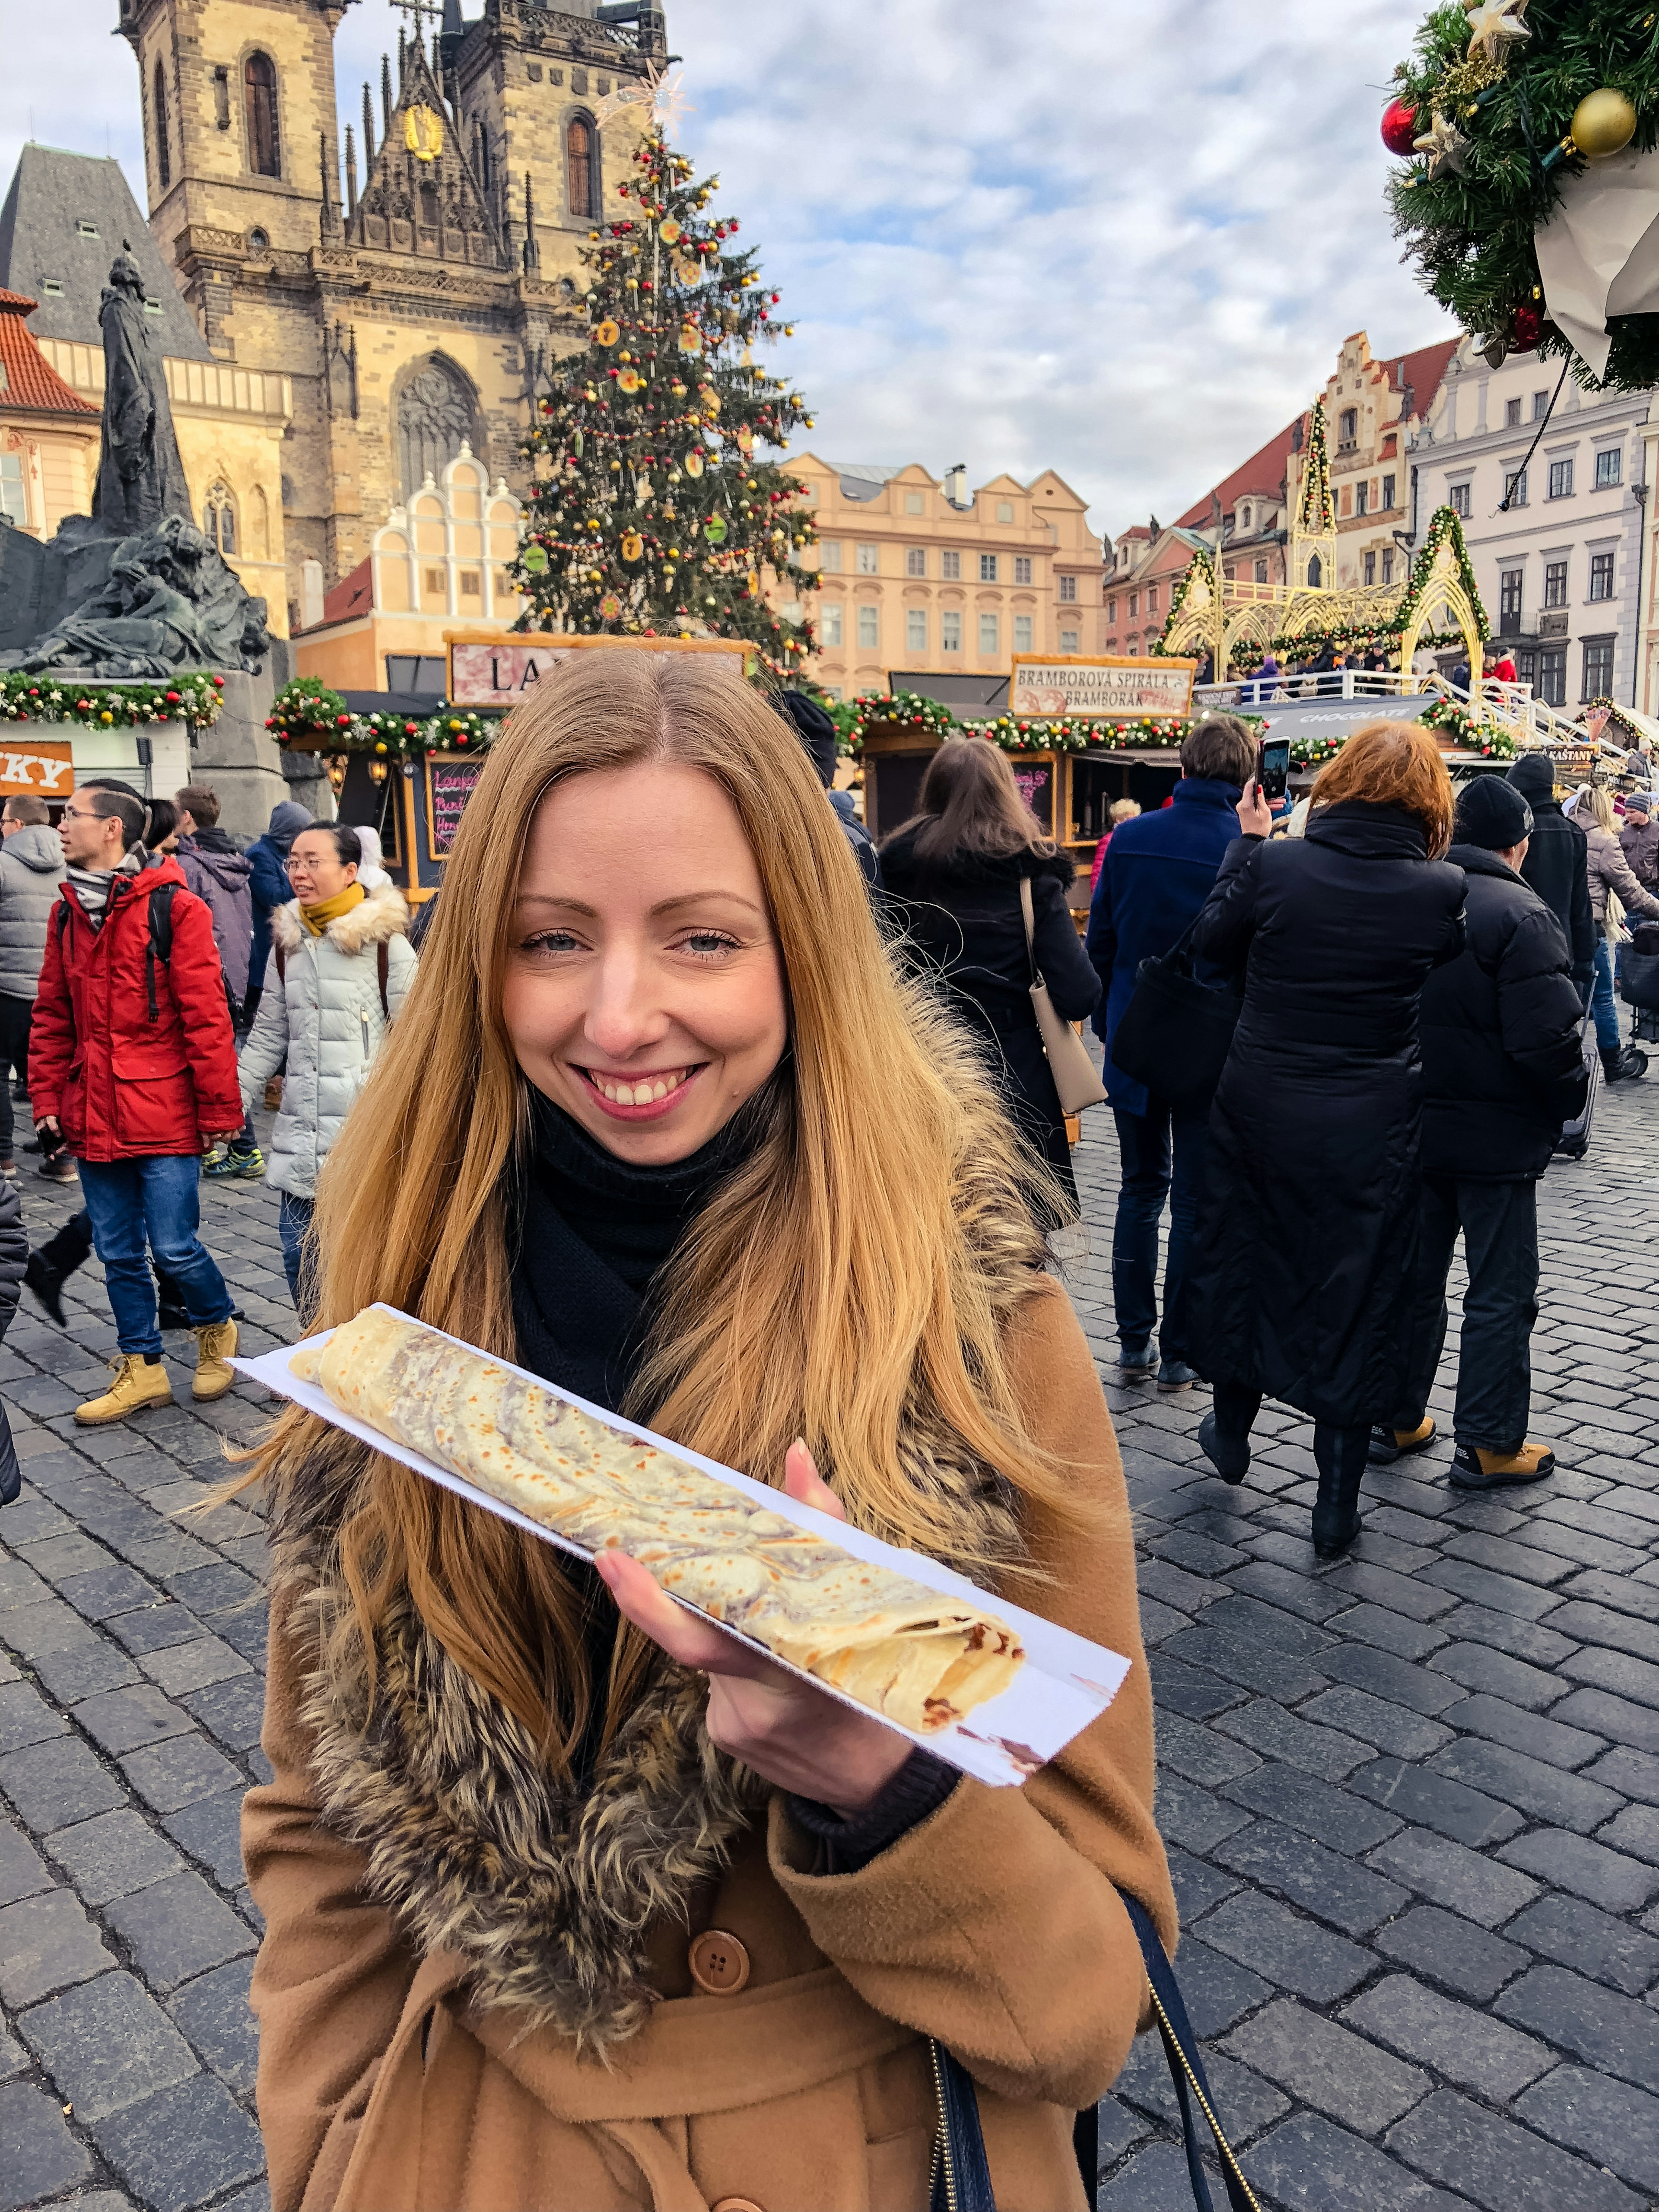
[[[891,672],[1009,675],[1015,653],[1102,650],[1102,542],[1053,469],[1031,484],[792,462],[807,487],[821,588],[799,602],[818,630],[810,675],[838,699]],[[794,613],[794,606],[790,606]]]

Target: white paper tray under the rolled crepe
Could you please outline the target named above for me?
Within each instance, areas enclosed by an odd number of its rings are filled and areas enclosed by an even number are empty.
[[[383,1312],[394,1314],[398,1310],[387,1305]],[[398,1314],[398,1318],[411,1321],[414,1316]],[[420,1327],[427,1327],[427,1323],[420,1323]],[[325,1345],[330,1336],[332,1329],[323,1329],[319,1336],[307,1336],[305,1347]],[[449,1343],[462,1345],[462,1338],[451,1336]],[[593,1557],[593,1553],[582,1544],[573,1544],[553,1528],[544,1528],[524,1513],[515,1513],[498,1498],[491,1498],[487,1491],[480,1491],[460,1475],[453,1475],[447,1467],[438,1467],[436,1460],[425,1460],[418,1451],[394,1442],[389,1436],[372,1429],[365,1420],[343,1413],[327,1391],[314,1383],[301,1383],[290,1369],[288,1363],[299,1349],[301,1345],[288,1345],[285,1349],[261,1352],[261,1356],[252,1360],[237,1358],[230,1365],[241,1374],[252,1376],[257,1383],[263,1383],[265,1389],[274,1389],[279,1396],[303,1405],[307,1413],[319,1413],[336,1429],[345,1429],[365,1444],[374,1444],[374,1449],[383,1451],[387,1458],[400,1460],[429,1482],[440,1482],[447,1491],[456,1491],[458,1498],[471,1500],[471,1504],[480,1506],[484,1513],[513,1522],[515,1528],[524,1528],[544,1544],[557,1544],[560,1551],[575,1553],[577,1559]],[[476,1345],[465,1345],[465,1349],[478,1352]],[[484,1358],[487,1354],[478,1356]],[[1099,1644],[1088,1644],[1086,1637],[1075,1637],[1068,1628],[1055,1628],[1053,1621],[1044,1621],[1040,1615],[1026,1613],[1022,1606],[1011,1606],[1004,1597],[993,1597],[991,1593],[975,1588],[975,1584],[971,1584],[964,1575],[951,1573],[949,1566],[940,1566],[936,1559],[927,1559],[918,1551],[900,1551],[896,1544],[883,1544],[878,1537],[865,1535],[860,1528],[849,1528],[845,1522],[830,1520],[830,1515],[818,1513],[816,1506],[799,1504],[794,1498],[787,1498],[783,1491],[774,1491],[765,1482],[754,1482],[750,1475],[739,1475],[730,1467],[721,1467],[717,1460],[706,1460],[697,1451],[686,1451],[684,1444],[675,1444],[666,1436],[657,1436],[650,1429],[637,1429],[630,1422],[619,1422],[606,1407],[593,1405],[591,1398],[577,1398],[573,1391],[555,1389],[551,1383],[529,1374],[524,1367],[511,1367],[509,1360],[502,1360],[500,1365],[524,1376],[526,1383],[544,1389],[551,1398],[560,1398],[564,1405],[573,1405],[582,1413],[591,1413],[595,1420],[606,1422],[622,1436],[639,1438],[644,1444],[655,1444],[659,1451],[672,1453],[688,1467],[701,1467],[706,1475],[714,1475],[717,1482],[726,1482],[732,1489],[743,1491],[745,1498],[757,1500],[757,1504],[770,1506],[772,1513],[781,1515],[781,1520],[827,1537],[832,1544],[849,1551],[856,1559],[867,1559],[874,1566],[889,1566],[898,1575],[909,1575],[911,1582],[927,1584],[929,1590],[940,1590],[949,1597],[964,1597],[971,1604],[989,1606],[1000,1619],[1018,1628],[1020,1641],[1026,1648],[1026,1663],[1000,1697],[978,1705],[967,1721],[956,1721],[949,1728],[940,1728],[933,1734],[922,1736],[883,1719],[883,1728],[894,1728],[896,1734],[909,1736],[911,1743],[920,1743],[925,1750],[949,1761],[953,1767],[960,1767],[964,1774],[973,1774],[982,1783],[1022,1783],[1026,1774],[1035,1774],[1035,1770],[1046,1765],[1055,1752],[1062,1752],[1071,1739],[1088,1728],[1088,1723],[1117,1697],[1130,1666],[1128,1659],[1121,1659],[1117,1652],[1108,1652]],[[686,1604],[686,1599],[677,1597],[675,1604]],[[699,1619],[708,1619],[708,1615],[697,1606],[686,1606],[686,1610],[697,1613]],[[754,1637],[745,1637],[741,1630],[730,1628],[726,1621],[714,1621],[712,1626],[719,1628],[721,1635],[737,1637],[739,1644],[748,1644],[752,1650],[765,1652],[763,1644],[757,1644]],[[765,1652],[765,1657],[772,1659],[774,1666],[787,1666],[787,1661],[776,1659],[774,1652]],[[803,1681],[812,1681],[814,1688],[825,1690],[827,1697],[841,1697],[838,1690],[816,1681],[816,1677],[807,1674],[803,1668],[790,1668],[790,1672],[801,1674]],[[841,1697],[841,1703],[852,1705],[854,1712],[863,1712],[869,1719],[880,1719],[880,1714],[872,1714],[867,1705],[860,1705],[852,1697]]]

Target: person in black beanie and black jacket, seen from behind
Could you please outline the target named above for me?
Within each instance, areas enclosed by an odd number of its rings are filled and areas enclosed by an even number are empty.
[[[1427,1451],[1429,1391],[1447,1340],[1447,1274],[1462,1230],[1469,1292],[1458,1352],[1451,1480],[1495,1491],[1537,1482],[1555,1453],[1526,1442],[1537,1321],[1537,1179],[1562,1124],[1584,1110],[1584,1011],[1562,925],[1520,876],[1533,812],[1480,776],[1458,796],[1447,854],[1467,878],[1467,945],[1422,987],[1422,1245],[1411,1383],[1383,1464]]]

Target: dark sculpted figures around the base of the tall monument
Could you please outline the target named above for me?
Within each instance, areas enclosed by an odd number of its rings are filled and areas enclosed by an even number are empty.
[[[60,538],[66,531],[69,524]],[[0,653],[0,668],[31,675],[75,668],[104,681],[170,677],[181,668],[252,675],[268,653],[265,602],[248,597],[219,549],[188,518],[168,515],[146,535],[122,538],[104,584],[35,644]]]

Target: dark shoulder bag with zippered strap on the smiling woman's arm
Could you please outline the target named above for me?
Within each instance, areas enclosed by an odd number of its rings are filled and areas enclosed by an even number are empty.
[[[1203,2172],[1203,2157],[1199,2154],[1201,2137],[1197,2121],[1192,2119],[1192,2099],[1197,2097],[1199,2110],[1210,2124],[1217,2150],[1221,2152],[1221,2179],[1228,2190],[1230,2212],[1261,2212],[1250,2183],[1239,2168],[1239,2159],[1232,2152],[1232,2143],[1228,2143],[1221,2132],[1214,2099],[1210,2097],[1210,2084],[1203,2075],[1199,2044],[1192,2035],[1192,2024],[1186,2017],[1186,2004],[1181,2004],[1175,1971],[1164,1955],[1164,1944],[1157,1940],[1152,1916],[1139,1898],[1126,1896],[1124,1905],[1141,1947],[1146,1980],[1152,1991],[1157,2033],[1164,2037],[1164,2055],[1170,2062],[1175,2095],[1181,2104],[1181,2137],[1186,2139],[1186,2170],[1192,2181],[1192,2203],[1197,2212],[1214,2212],[1210,2177]],[[984,2157],[980,2099],[973,2088],[973,2075],[960,2059],[953,2059],[940,2042],[929,2039],[927,2048],[933,2064],[933,2093],[938,2097],[938,2130],[933,2135],[933,2172],[927,2190],[927,2212],[995,2212],[991,2166]],[[1088,2190],[1088,2201],[1093,2205],[1099,2188],[1095,2174],[1099,2108],[1077,2115],[1075,2141],[1077,2159],[1084,2170],[1084,2188]]]

